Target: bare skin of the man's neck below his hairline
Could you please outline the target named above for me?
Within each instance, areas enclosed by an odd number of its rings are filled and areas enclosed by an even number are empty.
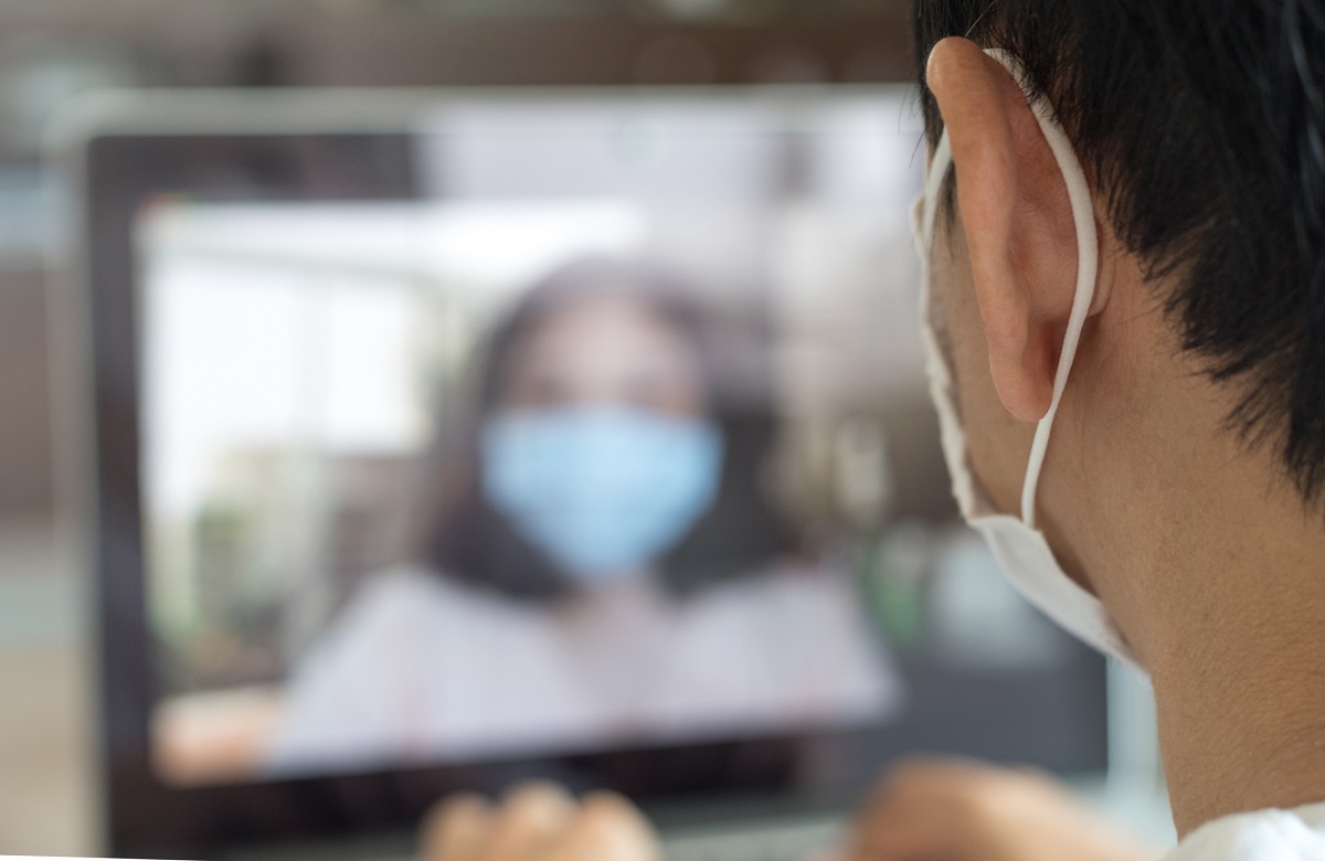
[[[1186,835],[1325,801],[1325,515],[1304,510],[1273,438],[1226,429],[1246,392],[1210,380],[1125,260],[1105,269],[1110,335],[1085,338],[1060,411],[1083,430],[1057,434],[1044,486],[1065,562],[1150,670]]]

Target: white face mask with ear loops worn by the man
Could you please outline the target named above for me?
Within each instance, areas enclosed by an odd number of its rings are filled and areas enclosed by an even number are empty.
[[[1002,64],[1018,83],[1022,83],[1022,68],[1014,57],[1000,50],[987,50],[986,53]],[[1022,89],[1026,91],[1024,85]],[[1090,311],[1090,301],[1094,297],[1098,240],[1094,229],[1094,211],[1090,205],[1090,189],[1085,183],[1081,164],[1072,151],[1072,144],[1043,99],[1032,101],[1031,106],[1040,123],[1040,130],[1053,151],[1053,158],[1059,163],[1059,170],[1063,171],[1063,179],[1067,181],[1072,219],[1076,224],[1079,262],[1076,298],[1072,302],[1068,330],[1063,338],[1063,355],[1053,378],[1053,400],[1049,412],[1040,420],[1035,430],[1031,461],[1026,468],[1026,483],[1022,487],[1020,518],[998,513],[971,469],[966,452],[966,436],[962,432],[957,411],[953,375],[939,343],[938,330],[942,327],[942,321],[934,311],[930,289],[930,253],[933,252],[939,191],[953,164],[953,152],[946,131],[930,162],[925,193],[916,201],[912,211],[916,248],[921,257],[921,326],[924,329],[925,366],[929,372],[930,393],[938,408],[943,456],[953,476],[953,495],[957,497],[966,522],[988,542],[1007,579],[1049,619],[1105,654],[1133,669],[1145,672],[1118,628],[1109,619],[1104,605],[1068,578],[1053,558],[1044,534],[1035,527],[1035,491],[1040,481],[1040,468],[1044,465],[1044,453],[1049,446],[1053,416],[1063,400],[1063,389],[1067,388],[1068,375],[1072,371],[1081,327],[1085,325]]]

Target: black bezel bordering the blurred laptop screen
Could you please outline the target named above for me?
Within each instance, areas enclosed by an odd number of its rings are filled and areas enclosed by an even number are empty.
[[[160,195],[204,201],[420,199],[413,140],[407,132],[375,131],[106,134],[91,138],[83,150],[106,852],[208,857],[244,845],[405,831],[448,791],[496,792],[533,776],[559,779],[575,788],[615,788],[649,801],[696,793],[808,791],[807,758],[849,760],[853,751],[865,748],[880,760],[925,746],[1036,762],[1057,771],[1105,766],[1104,664],[1081,652],[1073,657],[1073,666],[1080,665],[1080,687],[1048,703],[1063,714],[1061,722],[1075,722],[1075,734],[1048,742],[1030,743],[1012,729],[1016,713],[1035,701],[1034,691],[1000,687],[980,674],[935,681],[921,668],[913,684],[987,685],[988,705],[982,714],[909,715],[869,736],[872,740],[861,740],[865,736],[860,733],[824,731],[302,780],[189,788],[160,782],[152,771],[148,727],[155,681],[139,498],[136,217]]]

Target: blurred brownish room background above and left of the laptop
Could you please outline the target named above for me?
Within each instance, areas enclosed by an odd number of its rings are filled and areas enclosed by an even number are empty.
[[[0,850],[95,850],[86,593],[57,525],[52,118],[106,87],[909,77],[906,0],[0,0]]]

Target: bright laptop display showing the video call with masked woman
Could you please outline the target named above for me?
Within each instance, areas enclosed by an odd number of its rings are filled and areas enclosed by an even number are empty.
[[[901,98],[452,106],[136,225],[159,775],[884,726],[1064,641],[953,522]]]

